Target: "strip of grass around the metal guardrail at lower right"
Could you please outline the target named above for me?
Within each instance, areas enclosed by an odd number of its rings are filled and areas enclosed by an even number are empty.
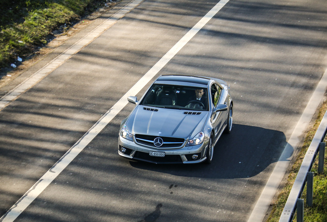
[[[302,149],[297,157],[296,162],[292,167],[292,171],[288,176],[287,183],[283,190],[280,192],[277,201],[272,206],[272,211],[266,222],[275,222],[279,221],[279,218],[283,212],[287,197],[290,190],[292,189],[293,183],[301,167],[302,160],[305,156],[305,153],[310,146],[312,139],[315,136],[315,133],[319,127],[322,117],[324,116],[327,110],[327,101],[323,103],[319,110],[317,120],[308,131],[307,136],[304,140]],[[324,139],[327,142],[327,137]],[[313,206],[308,207],[304,204],[304,221],[306,222],[326,222],[327,221],[327,148],[325,147],[325,158],[324,158],[324,171],[321,174],[318,174],[318,156],[313,165],[312,172],[314,172],[314,184],[313,184]],[[304,203],[306,203],[306,187],[304,188],[302,197]],[[296,221],[296,214],[293,221]]]

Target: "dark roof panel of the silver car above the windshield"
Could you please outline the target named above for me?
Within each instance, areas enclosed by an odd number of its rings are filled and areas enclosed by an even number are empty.
[[[186,84],[199,84],[199,85],[208,85],[210,79],[206,77],[197,77],[197,76],[179,76],[179,75],[163,75],[160,76],[155,83],[157,82],[179,82]]]

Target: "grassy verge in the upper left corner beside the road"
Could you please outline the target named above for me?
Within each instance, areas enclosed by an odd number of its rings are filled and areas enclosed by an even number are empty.
[[[1,0],[0,69],[44,46],[52,31],[69,27],[110,0]]]

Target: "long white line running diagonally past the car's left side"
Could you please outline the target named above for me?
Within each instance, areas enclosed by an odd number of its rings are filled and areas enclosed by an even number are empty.
[[[229,0],[217,3],[193,28],[188,31],[163,57],[144,75],[87,133],[72,146],[69,151],[47,171],[34,186],[0,218],[0,221],[14,221],[37,198],[46,187],[74,160],[74,158],[92,141],[103,128],[128,103],[128,96],[136,95],[151,79],[183,48],[193,36],[201,30],[211,18],[219,12]]]

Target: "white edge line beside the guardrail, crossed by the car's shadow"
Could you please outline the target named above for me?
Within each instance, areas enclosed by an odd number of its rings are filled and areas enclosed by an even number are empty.
[[[272,171],[265,188],[263,189],[255,208],[253,209],[248,222],[262,222],[272,198],[277,193],[278,187],[282,182],[282,179],[289,166],[290,160],[293,158],[293,150],[297,149],[301,142],[301,135],[305,132],[310,124],[320,102],[325,94],[327,87],[327,70],[324,72],[320,79],[310,101],[306,105],[300,120],[298,121],[292,135],[290,136],[288,143],[286,144],[282,155]]]

